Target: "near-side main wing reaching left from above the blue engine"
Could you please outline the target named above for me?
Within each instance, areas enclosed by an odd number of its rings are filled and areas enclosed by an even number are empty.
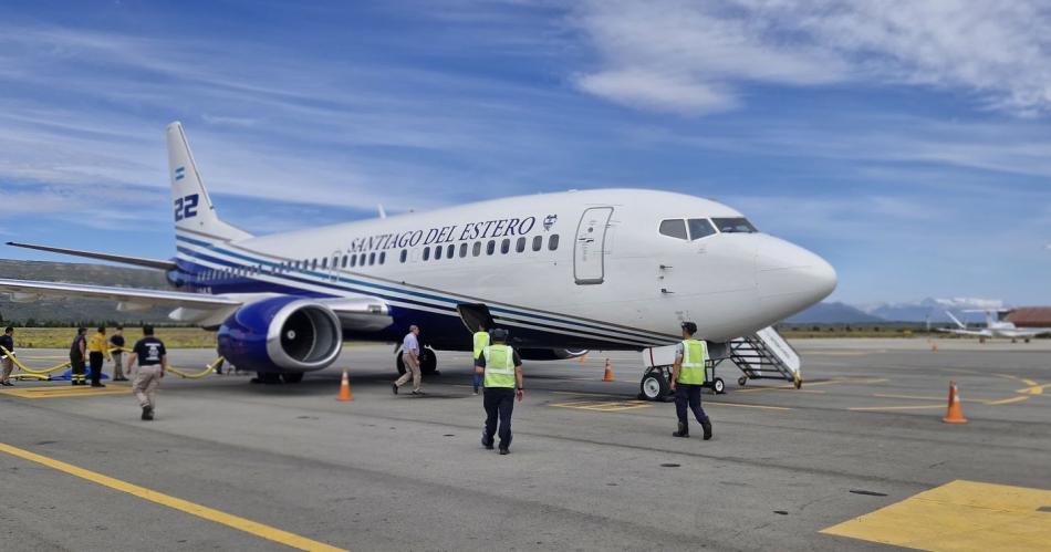
[[[0,292],[12,294],[14,301],[34,300],[40,295],[79,296],[104,299],[134,305],[184,306],[194,310],[212,311],[240,306],[243,301],[218,295],[205,295],[185,291],[143,290],[136,288],[116,288],[84,283],[40,282],[33,280],[0,279]]]

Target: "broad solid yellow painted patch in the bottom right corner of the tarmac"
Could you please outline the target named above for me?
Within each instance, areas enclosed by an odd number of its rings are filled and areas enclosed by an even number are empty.
[[[932,551],[1048,550],[1051,491],[956,480],[821,530]]]

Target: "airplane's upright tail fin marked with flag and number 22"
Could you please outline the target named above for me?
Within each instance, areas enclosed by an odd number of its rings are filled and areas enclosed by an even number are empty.
[[[183,124],[168,125],[168,176],[171,179],[171,201],[176,231],[185,230],[223,241],[236,241],[252,236],[219,219],[216,207],[201,181],[194,154]]]

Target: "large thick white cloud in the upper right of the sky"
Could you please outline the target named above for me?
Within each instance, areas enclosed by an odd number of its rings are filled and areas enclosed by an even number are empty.
[[[749,83],[850,83],[1051,111],[1051,10],[1036,0],[593,1],[571,21],[601,60],[577,85],[618,103],[708,113],[736,105]],[[705,101],[714,90],[719,101]]]

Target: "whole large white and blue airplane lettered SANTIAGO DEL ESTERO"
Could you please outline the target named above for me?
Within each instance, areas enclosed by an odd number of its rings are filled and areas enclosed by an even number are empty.
[[[170,290],[0,279],[12,300],[105,299],[126,312],[217,331],[220,355],[264,383],[336,362],[344,340],[470,351],[479,324],[510,330],[524,360],[642,351],[697,337],[725,343],[828,296],[835,270],[712,200],[647,189],[511,197],[253,236],[219,217],[183,125],[167,126],[176,256],[144,259],[15,247],[163,270]],[[395,351],[398,371],[400,355]]]

